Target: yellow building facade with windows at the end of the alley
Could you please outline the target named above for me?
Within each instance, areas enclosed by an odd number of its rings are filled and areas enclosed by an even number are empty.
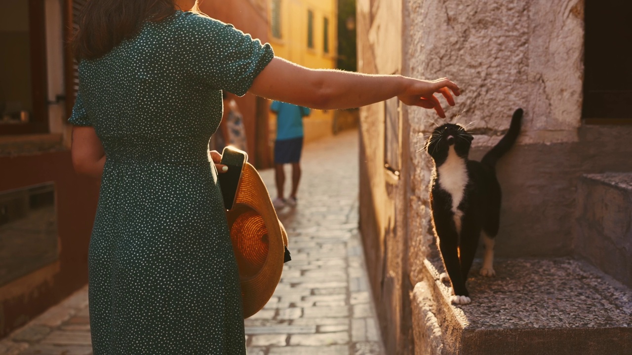
[[[336,0],[268,0],[269,40],[274,54],[308,68],[336,68]],[[270,116],[276,136],[276,116]],[[312,110],[303,119],[305,142],[332,135],[334,111]]]

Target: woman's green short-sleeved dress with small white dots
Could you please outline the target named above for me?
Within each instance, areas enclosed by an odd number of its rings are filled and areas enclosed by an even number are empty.
[[[245,354],[238,270],[207,144],[221,90],[244,95],[269,45],[177,11],[80,63],[70,123],[106,152],[88,253],[95,355]]]

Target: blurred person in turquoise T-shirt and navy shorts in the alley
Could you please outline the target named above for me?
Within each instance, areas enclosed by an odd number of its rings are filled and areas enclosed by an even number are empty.
[[[274,101],[270,105],[270,111],[277,114],[277,136],[276,141],[274,141],[274,181],[276,182],[277,198],[272,201],[272,204],[275,208],[283,208],[286,204],[296,206],[296,193],[301,179],[303,117],[309,116],[310,109]],[[285,164],[292,164],[292,191],[287,200],[284,198]]]

